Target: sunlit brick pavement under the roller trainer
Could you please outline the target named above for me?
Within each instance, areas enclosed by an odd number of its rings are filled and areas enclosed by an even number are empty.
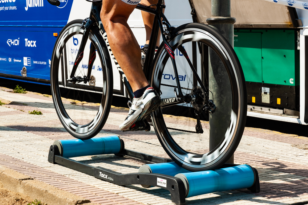
[[[170,193],[152,187],[144,189],[139,185],[117,186],[87,174],[70,170],[64,166],[47,162],[49,146],[57,139],[73,139],[63,128],[51,97],[35,93],[16,94],[0,91],[0,98],[14,104],[0,106],[0,165],[26,174],[59,189],[90,199],[98,204],[172,204]],[[68,100],[69,103],[69,100]],[[26,105],[24,105],[26,104]],[[85,105],[83,105],[85,106]],[[89,108],[89,107],[88,107]],[[95,106],[92,107],[95,110]],[[28,110],[39,109],[42,116],[30,115]],[[23,110],[23,111],[20,111]],[[128,149],[168,157],[154,131],[121,132],[118,129],[126,117],[124,109],[111,108],[109,118],[98,137],[116,134],[125,142]],[[169,116],[166,123],[174,123]],[[167,119],[167,118],[166,118]],[[186,123],[185,126],[193,127]],[[205,135],[209,126],[204,124]],[[175,132],[176,133],[176,132]],[[186,143],[192,137],[190,143]],[[207,148],[197,147],[193,135],[178,136],[179,143],[193,151]],[[206,142],[206,141],[205,141]],[[237,164],[249,164],[259,172],[261,191],[251,193],[247,189],[216,192],[191,197],[187,204],[291,204],[308,201],[308,150],[292,145],[308,144],[308,139],[266,130],[246,128],[241,143],[234,154]],[[121,173],[138,172],[145,162],[135,159],[119,158],[114,155],[98,155],[74,158],[75,160],[101,166]]]

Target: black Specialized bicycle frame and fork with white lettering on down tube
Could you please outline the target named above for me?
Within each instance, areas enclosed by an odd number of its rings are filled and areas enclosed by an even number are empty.
[[[91,7],[91,12],[90,12],[90,17],[86,18],[83,23],[81,24],[81,28],[84,30],[83,32],[83,38],[79,47],[79,52],[77,54],[77,57],[75,59],[75,63],[71,72],[71,79],[69,80],[73,80],[75,79],[75,82],[78,81],[75,78],[75,72],[77,70],[77,67],[81,61],[81,59],[83,58],[83,51],[85,48],[85,45],[87,43],[87,39],[88,36],[90,34],[90,29],[92,26],[96,25],[99,27],[102,35],[103,35],[103,39],[105,40],[107,47],[109,49],[109,52],[115,62],[115,65],[120,73],[120,77],[128,91],[128,95],[130,97],[130,99],[132,99],[134,97],[134,93],[132,91],[132,88],[123,72],[123,70],[121,69],[120,65],[117,63],[117,60],[115,59],[115,56],[113,55],[110,45],[108,43],[108,39],[107,39],[107,33],[103,27],[103,24],[101,22],[100,19],[100,10],[102,7],[102,2],[92,2],[92,7]],[[172,47],[169,45],[166,36],[168,38],[168,34],[172,31],[173,27],[170,26],[170,23],[168,22],[168,20],[166,19],[166,17],[164,16],[163,13],[163,8],[164,8],[164,0],[159,0],[158,4],[156,5],[156,9],[152,9],[150,6],[145,6],[143,4],[138,4],[136,6],[136,9],[142,10],[142,11],[146,11],[148,13],[151,13],[153,15],[155,15],[154,17],[154,22],[153,22],[153,27],[152,27],[152,33],[151,33],[151,37],[150,37],[150,42],[149,42],[149,46],[148,46],[148,52],[145,56],[145,62],[144,62],[144,74],[147,78],[148,81],[150,81],[151,78],[151,66],[152,66],[152,62],[154,59],[154,55],[155,55],[155,47],[156,47],[156,41],[157,41],[157,36],[158,36],[158,31],[160,29],[161,33],[162,33],[162,39],[164,41],[164,49],[168,52],[170,59],[172,61],[172,65],[173,65],[173,69],[174,69],[174,73],[176,76],[176,84],[177,84],[177,88],[179,91],[179,96],[176,96],[178,103],[180,102],[184,102],[187,99],[187,97],[185,97],[181,91],[181,86],[180,86],[180,81],[179,81],[179,77],[178,77],[178,72],[177,72],[177,68],[176,68],[176,63],[175,63],[175,55],[174,55],[174,51],[172,50]],[[162,21],[160,19],[163,19]],[[164,31],[164,27],[163,24],[166,25],[167,29]],[[166,35],[166,36],[165,36]],[[170,36],[169,36],[170,37]],[[183,46],[179,47],[179,50],[184,54],[185,58],[188,61],[188,64],[190,65],[190,67],[192,68],[193,74],[194,76],[197,76],[197,81],[199,82],[199,84],[201,85],[201,87],[206,91],[205,86],[203,85],[201,79],[198,77],[197,75],[197,71],[195,70],[195,68],[193,67],[193,64],[191,63],[190,59],[188,58],[188,55],[184,49]],[[95,48],[94,46],[91,47],[90,49],[90,56],[89,56],[89,62],[88,62],[88,68],[92,67],[92,64],[95,60],[96,54],[95,54]],[[84,76],[84,78],[80,79],[79,78],[79,82],[84,81],[87,82],[87,80],[90,79],[91,76],[91,69],[88,69],[88,73],[87,76]],[[86,78],[85,78],[86,77]],[[165,99],[162,99],[165,100]],[[174,104],[174,103],[172,103]],[[166,106],[166,104],[164,104],[164,106]]]

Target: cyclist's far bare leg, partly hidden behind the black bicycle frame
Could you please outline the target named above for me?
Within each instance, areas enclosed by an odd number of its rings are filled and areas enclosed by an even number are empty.
[[[149,5],[152,5],[152,4],[157,4],[157,2],[158,2],[158,0],[141,0],[140,3],[149,6]],[[153,8],[155,8],[155,6],[153,6]],[[150,36],[151,36],[151,32],[152,32],[153,21],[154,21],[154,15],[150,14],[146,11],[141,11],[141,14],[142,14],[144,27],[145,27],[145,31],[146,31],[146,43],[145,44],[149,44]],[[160,40],[160,31],[158,32],[158,37],[157,37],[157,42],[156,42],[157,47],[159,47],[159,45],[160,45],[159,40]]]

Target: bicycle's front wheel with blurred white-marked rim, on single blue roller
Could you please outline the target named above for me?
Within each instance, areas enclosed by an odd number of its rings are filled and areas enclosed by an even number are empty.
[[[80,28],[82,22],[81,19],[71,21],[60,32],[51,58],[50,74],[53,103],[62,125],[75,138],[85,140],[99,133],[107,120],[113,95],[113,75],[106,43],[99,29],[92,26],[87,41],[90,43],[89,48],[94,45],[96,50],[91,83],[67,82],[82,38],[83,30]],[[79,64],[76,76],[86,75],[87,69],[91,69],[87,68],[86,55],[82,60],[84,64],[82,62]],[[74,102],[75,104],[72,104]]]

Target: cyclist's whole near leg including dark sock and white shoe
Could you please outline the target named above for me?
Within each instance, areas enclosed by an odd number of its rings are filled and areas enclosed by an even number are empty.
[[[123,131],[130,130],[136,122],[143,121],[160,104],[159,95],[148,85],[144,76],[140,63],[140,47],[127,24],[127,19],[135,7],[136,5],[125,3],[124,0],[104,0],[100,15],[113,55],[135,95],[128,116],[120,125]]]

